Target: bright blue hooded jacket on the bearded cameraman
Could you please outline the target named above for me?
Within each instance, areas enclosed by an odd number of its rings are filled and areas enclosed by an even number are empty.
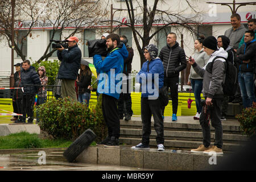
[[[122,85],[123,60],[127,57],[128,51],[123,43],[109,52],[104,60],[102,60],[101,55],[93,56],[94,67],[99,73],[98,93],[104,93],[116,99],[119,98]]]

